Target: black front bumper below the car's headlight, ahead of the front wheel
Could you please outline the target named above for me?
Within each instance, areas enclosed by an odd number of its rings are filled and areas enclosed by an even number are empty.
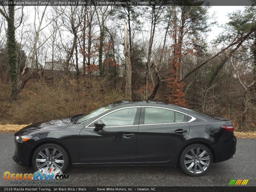
[[[26,142],[19,143],[15,141],[15,153],[13,160],[18,164],[26,167],[31,166],[31,151],[33,147],[30,147]]]

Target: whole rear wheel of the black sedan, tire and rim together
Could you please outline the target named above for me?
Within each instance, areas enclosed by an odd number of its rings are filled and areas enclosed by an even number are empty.
[[[198,148],[199,148],[199,151],[197,154]],[[194,151],[195,156],[193,155],[192,150]],[[205,153],[204,150],[207,153]],[[203,153],[205,153],[205,154],[203,155]],[[200,157],[200,155],[202,155],[202,157]],[[192,158],[190,158],[190,157],[192,157]],[[198,158],[198,157],[200,157],[200,158]],[[209,159],[208,159],[208,157],[209,157]],[[197,177],[197,176],[202,176],[202,175],[206,174],[209,171],[212,163],[213,163],[213,156],[211,154],[210,149],[202,144],[189,145],[181,152],[181,155],[180,155],[181,168],[186,174],[188,174],[190,176]],[[192,167],[190,168],[190,166],[192,166]],[[191,172],[191,171],[193,171],[193,172]]]

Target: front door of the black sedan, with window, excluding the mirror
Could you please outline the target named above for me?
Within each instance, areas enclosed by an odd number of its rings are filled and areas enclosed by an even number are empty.
[[[141,107],[111,111],[84,127],[79,135],[81,163],[136,162],[136,142]],[[102,130],[94,128],[101,120]]]

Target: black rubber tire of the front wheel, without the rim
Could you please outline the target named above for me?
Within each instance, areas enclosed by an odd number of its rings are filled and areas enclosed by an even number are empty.
[[[33,157],[32,157],[32,165],[33,165],[34,169],[38,171],[38,167],[36,165],[36,158],[37,158],[38,153],[45,148],[54,148],[62,153],[64,163],[63,163],[61,171],[62,171],[62,173],[64,173],[67,170],[68,165],[69,165],[69,155],[67,154],[66,150],[63,147],[61,147],[57,144],[54,144],[54,143],[43,144],[35,150]]]

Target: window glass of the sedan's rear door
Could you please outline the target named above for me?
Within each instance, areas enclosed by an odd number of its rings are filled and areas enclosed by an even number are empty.
[[[184,114],[176,111],[146,107],[144,124],[159,124],[159,123],[181,123],[183,122]]]

